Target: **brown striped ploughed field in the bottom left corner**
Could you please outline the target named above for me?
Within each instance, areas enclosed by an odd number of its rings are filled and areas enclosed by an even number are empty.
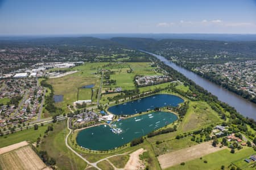
[[[51,169],[39,158],[30,146],[20,147],[17,150],[0,155],[0,165],[7,169]]]

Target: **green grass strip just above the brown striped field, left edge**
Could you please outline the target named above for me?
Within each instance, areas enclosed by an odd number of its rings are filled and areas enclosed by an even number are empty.
[[[44,131],[46,131],[49,124],[38,127],[38,130],[34,130],[34,128],[26,129],[23,128],[22,131],[16,131],[13,134],[4,135],[0,137],[0,147],[5,147],[9,145],[13,145],[14,143],[22,142],[22,141],[30,141],[32,143],[36,142],[36,139],[42,135],[44,135]]]

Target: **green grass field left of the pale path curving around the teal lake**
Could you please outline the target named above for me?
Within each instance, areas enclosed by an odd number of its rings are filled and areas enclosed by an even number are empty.
[[[85,169],[87,164],[84,160],[65,146],[67,134],[67,121],[56,122],[53,131],[42,139],[40,150],[47,151],[48,155],[56,160],[59,169]]]

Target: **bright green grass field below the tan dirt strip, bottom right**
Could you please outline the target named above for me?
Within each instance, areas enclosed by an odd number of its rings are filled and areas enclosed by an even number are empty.
[[[202,159],[194,159],[186,162],[185,165],[176,165],[174,167],[167,168],[168,170],[193,170],[193,169],[221,169],[221,165],[224,165],[226,169],[228,166],[236,160],[245,158],[255,154],[253,148],[245,147],[240,151],[236,150],[235,154],[230,153],[230,149],[224,149],[214,152],[212,154],[204,156]],[[204,163],[207,160],[207,163]]]

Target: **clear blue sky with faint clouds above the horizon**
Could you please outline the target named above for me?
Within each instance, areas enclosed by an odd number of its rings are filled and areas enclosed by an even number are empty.
[[[256,33],[256,0],[0,0],[0,35]]]

